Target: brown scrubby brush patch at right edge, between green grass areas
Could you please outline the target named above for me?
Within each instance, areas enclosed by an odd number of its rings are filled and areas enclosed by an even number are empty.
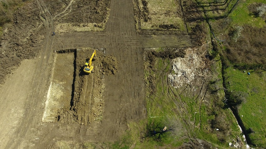
[[[234,31],[234,30],[233,30]],[[227,57],[232,63],[245,63],[245,64],[266,64],[266,41],[264,40],[266,27],[257,28],[251,26],[243,26],[241,36],[235,42],[235,32],[232,31],[233,37],[225,42],[225,51]],[[238,33],[238,32],[236,32]]]

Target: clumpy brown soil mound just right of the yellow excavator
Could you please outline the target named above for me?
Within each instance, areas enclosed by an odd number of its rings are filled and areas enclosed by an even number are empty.
[[[102,59],[100,67],[102,68],[103,75],[114,75],[117,72],[119,62],[117,58],[112,55],[100,57]]]

